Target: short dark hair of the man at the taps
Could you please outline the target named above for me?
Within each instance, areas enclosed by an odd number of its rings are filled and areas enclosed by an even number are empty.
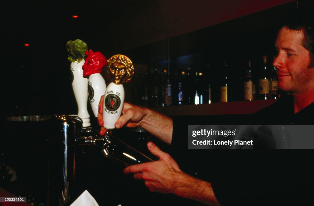
[[[281,21],[281,27],[287,26],[291,30],[303,30],[303,46],[314,57],[314,9],[297,9],[286,14]]]

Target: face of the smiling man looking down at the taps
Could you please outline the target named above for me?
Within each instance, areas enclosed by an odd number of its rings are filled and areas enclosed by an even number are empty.
[[[314,90],[314,67],[311,67],[310,52],[302,45],[302,30],[282,27],[275,46],[278,55],[273,62],[277,67],[278,85],[284,91],[304,93]]]

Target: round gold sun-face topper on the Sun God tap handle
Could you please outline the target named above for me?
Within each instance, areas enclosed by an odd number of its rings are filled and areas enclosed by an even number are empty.
[[[123,84],[132,79],[133,63],[130,58],[116,54],[107,60],[106,77],[115,84]]]

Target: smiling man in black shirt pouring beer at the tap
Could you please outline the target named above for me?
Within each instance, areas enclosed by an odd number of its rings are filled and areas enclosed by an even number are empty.
[[[277,121],[280,123],[293,120],[294,124],[304,124],[312,119],[314,114],[313,14],[312,10],[297,10],[284,18],[285,23],[280,28],[275,42],[278,55],[273,66],[277,68],[279,87],[291,92],[292,96],[280,99],[257,113],[256,117],[259,120],[261,118],[268,120],[269,115],[274,111],[278,114]],[[104,97],[101,98],[99,104],[100,126],[104,124],[103,99]],[[293,110],[287,110],[287,108],[293,108]],[[197,119],[192,119],[192,121],[193,125],[198,122]],[[174,147],[183,145],[181,149],[186,149],[186,142],[183,138],[186,136],[188,123],[183,122],[182,119],[171,119],[153,110],[124,103],[122,116],[116,121],[115,127],[119,129],[124,125],[141,126],[167,144]],[[104,134],[105,128],[102,128],[100,135]],[[134,178],[144,180],[145,185],[152,192],[173,193],[208,205],[273,205],[277,203],[290,205],[307,203],[313,190],[313,178],[310,178],[310,174],[313,174],[312,169],[300,153],[291,154],[284,151],[278,160],[276,160],[278,154],[273,152],[243,153],[241,159],[237,157],[238,153],[233,153],[231,155],[236,155],[237,158],[231,161],[230,156],[219,159],[216,156],[217,154],[227,156],[230,152],[208,152],[207,156],[203,155],[199,158],[210,158],[207,169],[212,170],[208,173],[212,181],[203,181],[183,172],[176,161],[154,143],[148,142],[147,146],[159,160],[129,166],[123,172],[134,173]],[[275,156],[269,157],[269,155]],[[297,171],[292,172],[289,165]],[[225,167],[222,168],[223,166]],[[213,177],[213,174],[216,176]]]

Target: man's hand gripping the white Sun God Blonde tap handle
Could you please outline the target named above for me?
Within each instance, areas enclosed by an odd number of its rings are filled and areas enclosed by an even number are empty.
[[[99,109],[98,109],[97,120],[98,120],[98,124],[101,126],[100,135],[104,135],[106,133],[106,129],[103,127],[104,120],[102,118],[103,103],[104,103],[104,95],[101,96],[100,102],[98,105]],[[145,115],[146,115],[145,108],[141,108],[136,105],[125,102],[122,108],[122,116],[116,121],[115,127],[119,129],[123,125],[126,125],[127,127],[140,126]]]

